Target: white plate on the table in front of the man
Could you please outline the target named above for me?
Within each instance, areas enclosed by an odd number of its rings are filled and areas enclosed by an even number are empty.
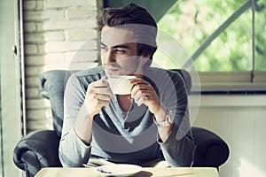
[[[96,172],[102,176],[131,176],[140,172],[141,169],[139,165],[115,164],[98,166]]]

